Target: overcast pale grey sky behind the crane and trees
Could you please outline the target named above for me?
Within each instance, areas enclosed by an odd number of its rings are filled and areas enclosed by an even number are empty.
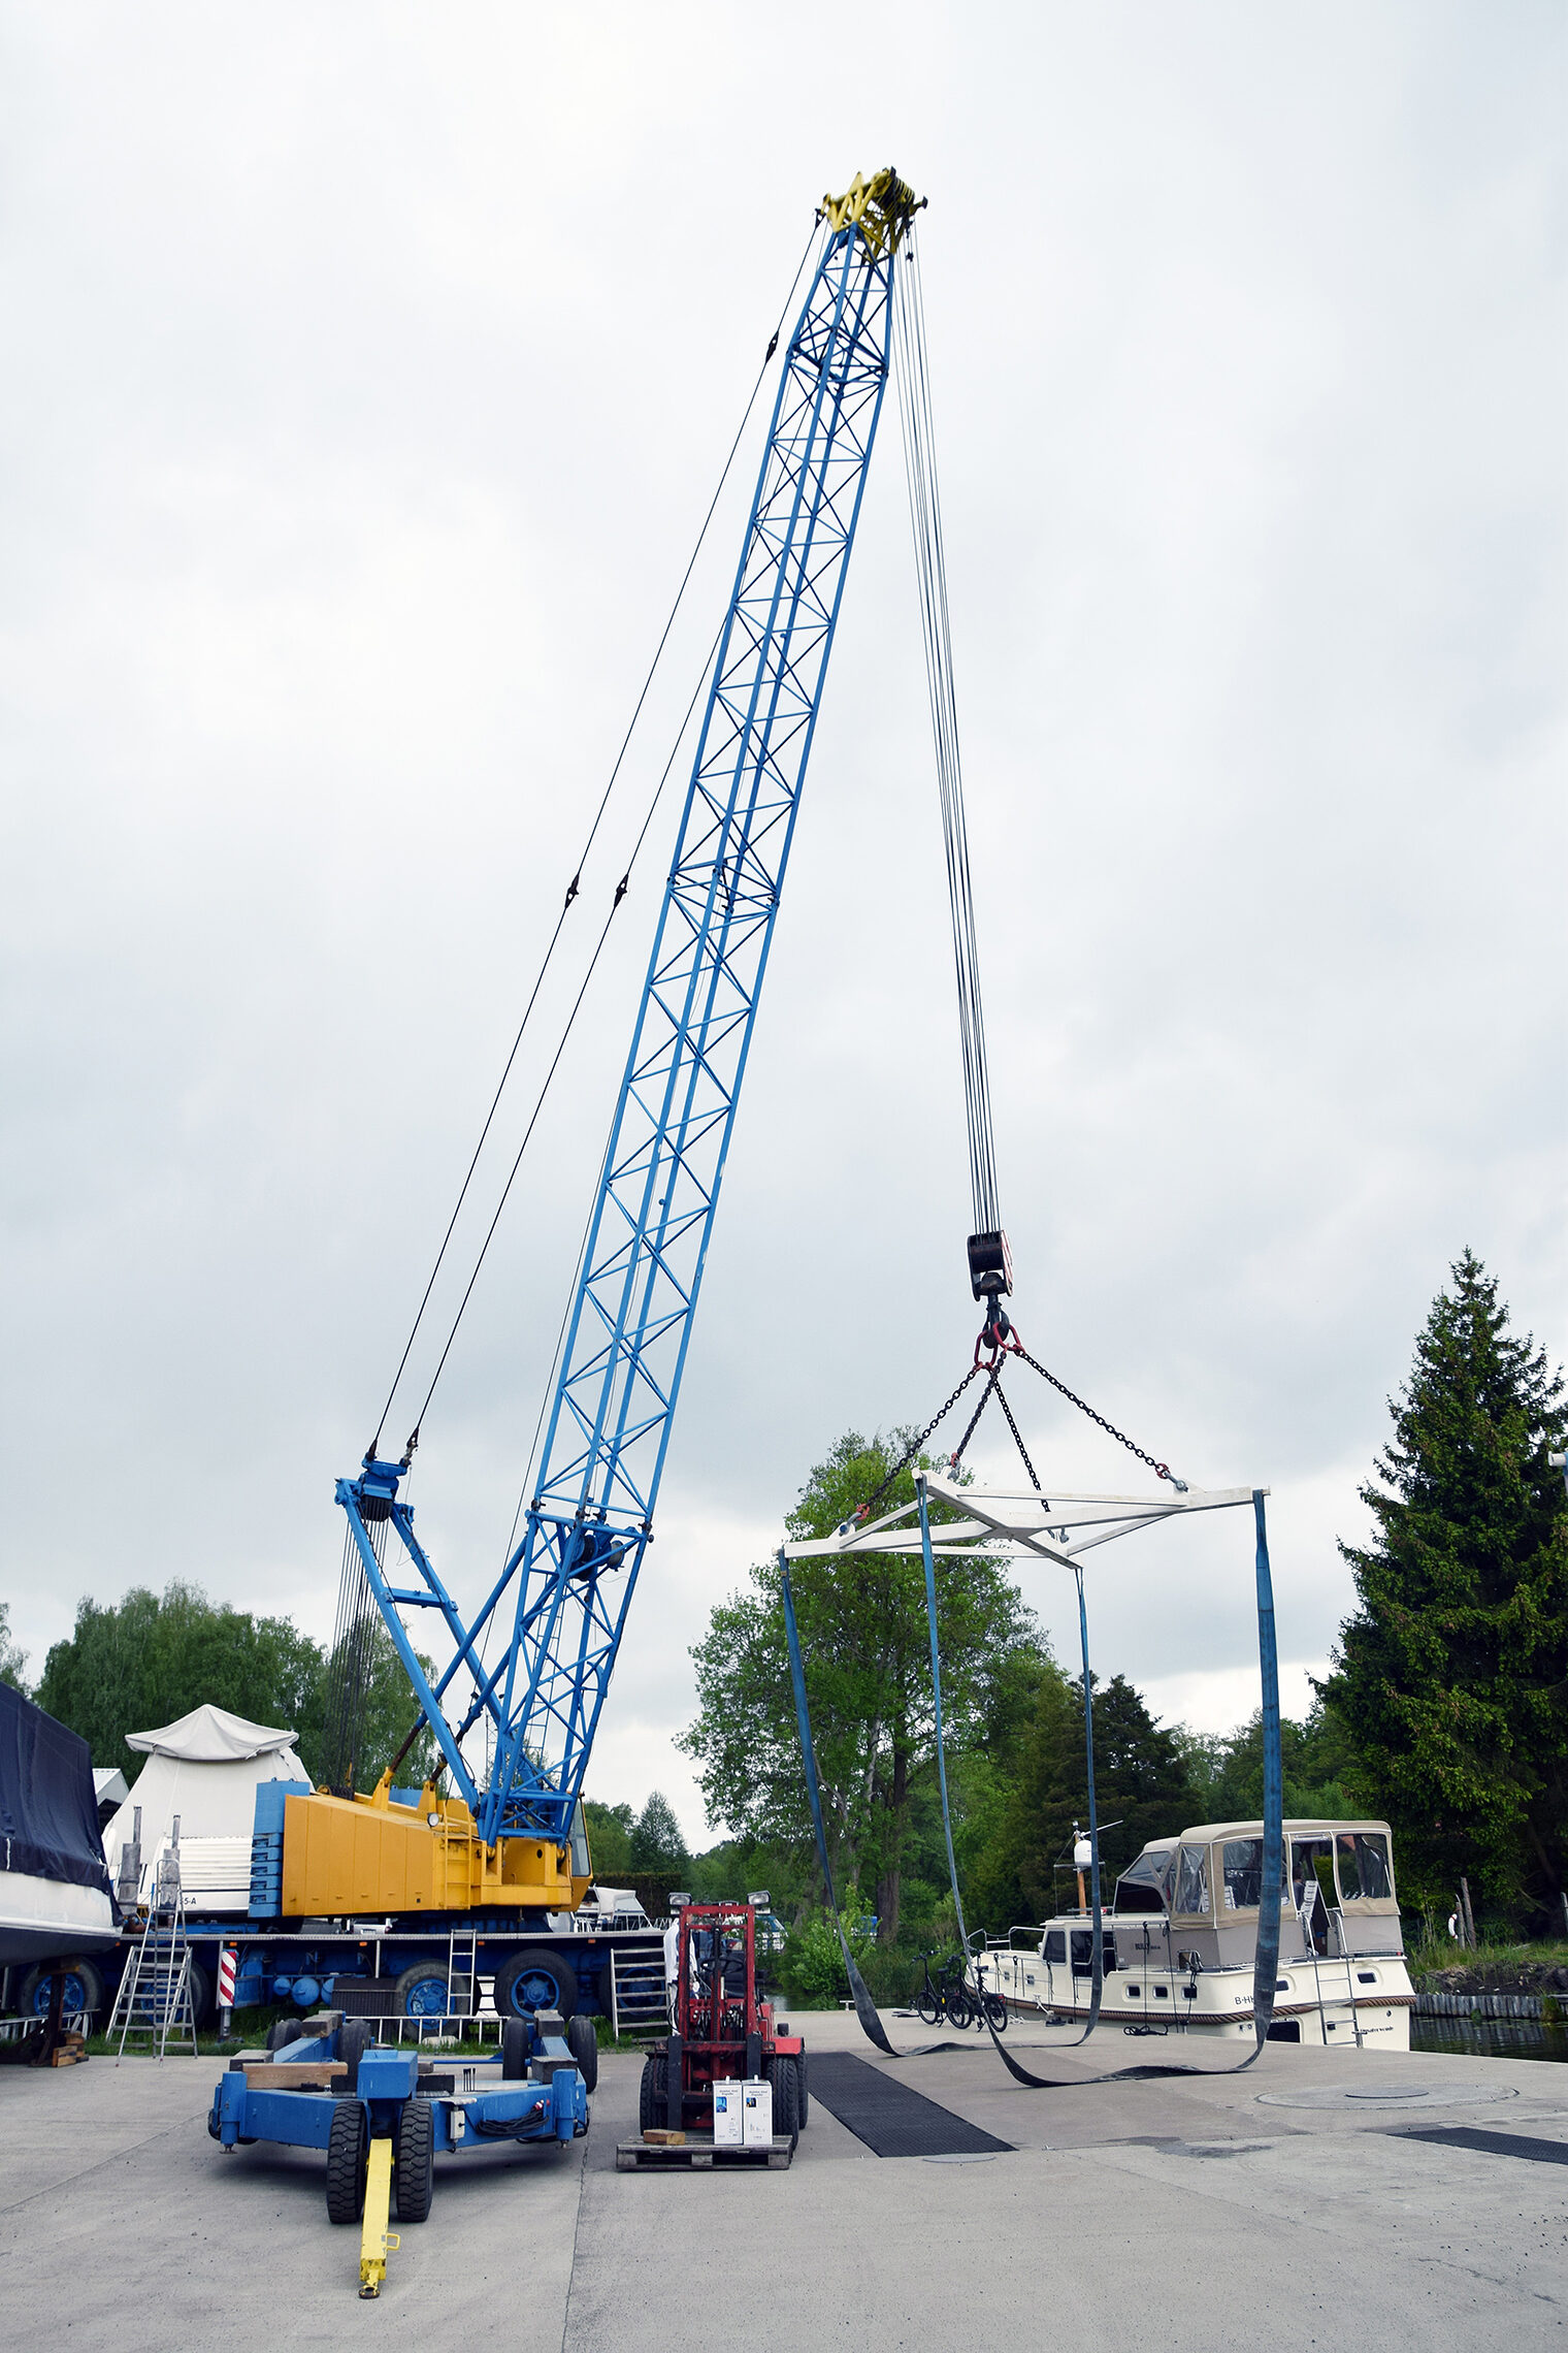
[[[813,205],[896,162],[931,200],[1018,1325],[1190,1480],[1272,1487],[1300,1708],[1448,1261],[1469,1242],[1563,1351],[1561,7],[9,0],[0,28],[0,1595],[33,1673],[82,1593],[169,1577],[329,1631],[334,1478]],[[468,1602],[675,807],[425,1421],[418,1525]],[[889,409],[595,1795],[665,1788],[708,1840],[670,1746],[689,1645],[842,1431],[957,1381],[966,1226]],[[1013,1391],[1048,1487],[1126,1485]],[[1065,1579],[1025,1591],[1072,1657]],[[1098,1555],[1091,1609],[1166,1718],[1255,1706],[1244,1515]]]

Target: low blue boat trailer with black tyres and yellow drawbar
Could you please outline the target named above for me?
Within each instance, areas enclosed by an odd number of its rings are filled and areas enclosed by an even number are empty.
[[[266,2052],[240,2052],[219,2075],[207,2132],[230,2155],[256,2141],[327,2155],[327,2219],[357,2221],[360,2294],[381,2294],[397,2221],[425,2221],[435,2158],[501,2141],[567,2146],[588,2132],[588,2071],[559,2012],[508,2019],[491,2059],[440,2068],[418,2047],[376,2045],[371,2019],[324,2012],[280,2021]]]

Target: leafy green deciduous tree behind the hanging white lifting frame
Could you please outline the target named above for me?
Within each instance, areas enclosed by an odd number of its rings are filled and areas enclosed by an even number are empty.
[[[832,1534],[877,1492],[905,1445],[900,1431],[886,1440],[853,1431],[842,1438],[806,1480],[790,1537]],[[905,1471],[882,1508],[912,1497]],[[931,1819],[936,1725],[924,1569],[919,1555],[825,1555],[795,1562],[792,1591],[835,1875],[858,1880],[875,1901],[882,1939],[893,1941],[922,1800]],[[1046,1652],[994,1562],[938,1562],[938,1635],[950,1755],[1004,1744],[1032,1708]],[[750,1586],[712,1612],[691,1657],[698,1720],[682,1746],[698,1760],[710,1819],[729,1821],[743,1840],[806,1857],[811,1821],[776,1560],[755,1567]]]

